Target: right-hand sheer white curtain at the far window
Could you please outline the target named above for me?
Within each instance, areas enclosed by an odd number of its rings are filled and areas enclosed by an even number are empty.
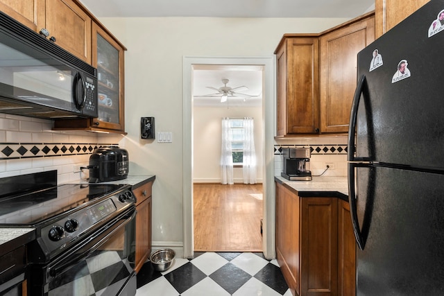
[[[244,184],[255,184],[257,182],[256,175],[256,152],[254,137],[253,118],[244,118]]]

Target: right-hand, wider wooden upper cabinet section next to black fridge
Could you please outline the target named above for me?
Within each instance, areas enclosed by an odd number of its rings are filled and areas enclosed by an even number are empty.
[[[357,85],[357,53],[375,40],[372,13],[321,35],[321,132],[348,132]]]

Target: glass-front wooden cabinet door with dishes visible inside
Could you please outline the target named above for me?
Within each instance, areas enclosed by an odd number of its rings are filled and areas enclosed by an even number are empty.
[[[124,132],[124,49],[96,24],[92,28],[92,64],[97,68],[99,95],[99,117],[92,120],[92,127]]]

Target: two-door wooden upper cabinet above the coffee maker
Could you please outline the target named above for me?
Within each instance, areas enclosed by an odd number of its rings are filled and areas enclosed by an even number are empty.
[[[275,50],[276,137],[348,132],[357,53],[375,40],[375,12],[318,34],[285,34]]]

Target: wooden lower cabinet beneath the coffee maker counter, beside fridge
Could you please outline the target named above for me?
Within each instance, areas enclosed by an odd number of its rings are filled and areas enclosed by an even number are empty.
[[[276,252],[293,295],[355,295],[348,202],[302,197],[276,182]]]

